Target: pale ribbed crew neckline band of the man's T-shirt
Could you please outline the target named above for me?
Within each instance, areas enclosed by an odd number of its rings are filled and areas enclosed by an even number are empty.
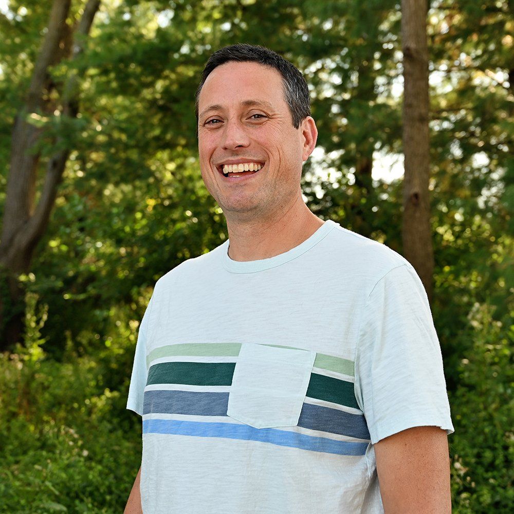
[[[222,256],[223,256],[223,266],[227,271],[232,273],[255,273],[257,271],[263,271],[265,269],[276,268],[286,262],[292,261],[296,259],[302,253],[310,250],[313,246],[317,245],[323,237],[325,237],[328,232],[330,232],[333,228],[339,226],[339,223],[332,221],[332,219],[327,219],[321,227],[314,232],[313,235],[308,237],[303,243],[300,243],[298,246],[287,250],[284,253],[279,253],[273,257],[269,257],[268,259],[259,259],[256,261],[234,261],[230,258],[228,254],[228,249],[230,245],[230,239],[227,239],[225,243],[222,245]]]

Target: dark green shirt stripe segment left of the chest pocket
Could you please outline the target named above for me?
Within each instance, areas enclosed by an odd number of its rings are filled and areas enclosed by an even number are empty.
[[[150,366],[146,385],[230,386],[235,362],[162,362]]]

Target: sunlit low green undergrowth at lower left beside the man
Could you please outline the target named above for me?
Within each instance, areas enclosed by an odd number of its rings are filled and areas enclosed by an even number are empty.
[[[126,380],[105,387],[104,363],[71,341],[62,362],[47,359],[37,318],[24,345],[0,354],[0,512],[120,512],[141,458]]]

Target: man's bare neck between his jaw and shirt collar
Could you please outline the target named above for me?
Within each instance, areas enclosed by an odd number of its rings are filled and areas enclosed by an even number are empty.
[[[300,245],[321,225],[323,220],[313,214],[302,199],[274,219],[246,223],[227,219],[228,253],[234,261],[269,259]]]

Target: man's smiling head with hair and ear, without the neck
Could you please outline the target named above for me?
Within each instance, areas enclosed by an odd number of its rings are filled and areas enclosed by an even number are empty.
[[[262,47],[218,50],[198,87],[196,114],[201,175],[227,221],[273,221],[299,202],[305,207],[302,164],[317,130],[307,85],[291,63]]]

